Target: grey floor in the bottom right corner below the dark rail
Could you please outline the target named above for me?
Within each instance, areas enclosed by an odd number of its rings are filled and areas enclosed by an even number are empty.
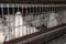
[[[46,43],[46,44],[66,44],[66,34]]]

